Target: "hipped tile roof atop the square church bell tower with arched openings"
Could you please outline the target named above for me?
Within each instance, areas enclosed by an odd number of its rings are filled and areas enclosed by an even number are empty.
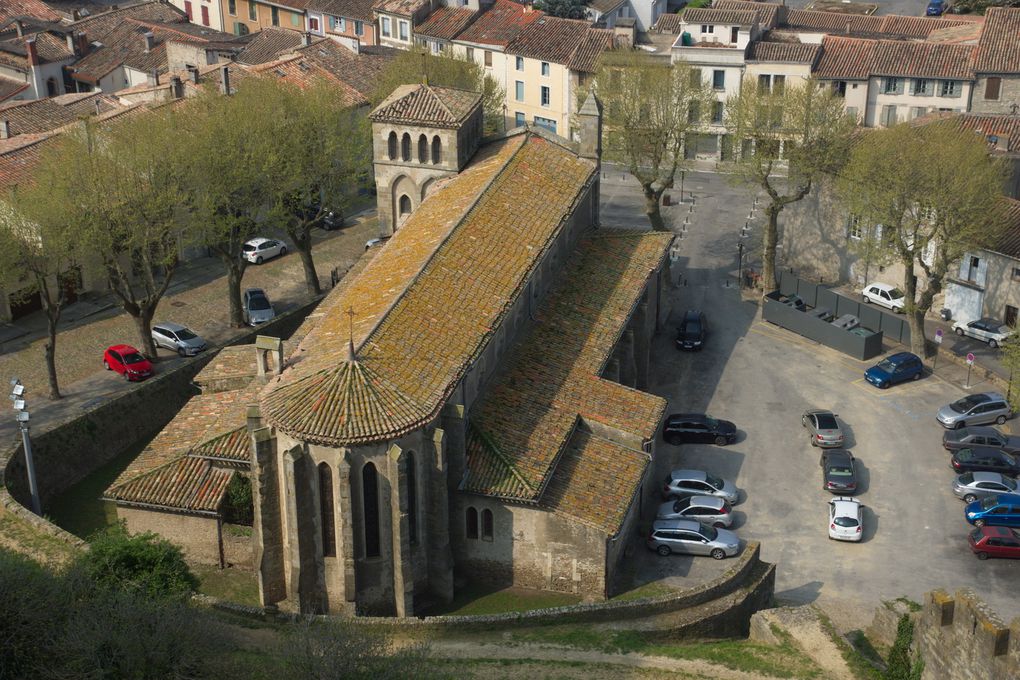
[[[369,117],[378,122],[456,127],[480,102],[481,96],[476,92],[429,85],[402,85],[384,99]]]

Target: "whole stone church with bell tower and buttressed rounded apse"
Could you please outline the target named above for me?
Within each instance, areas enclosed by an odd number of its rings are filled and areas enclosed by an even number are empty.
[[[200,560],[218,540],[221,560],[243,461],[263,605],[413,616],[465,580],[618,590],[655,483],[666,402],[642,389],[672,234],[599,227],[595,97],[579,144],[482,139],[481,115],[477,94],[427,85],[371,113],[392,236],[286,343],[203,369],[191,426],[107,490],[129,529]]]

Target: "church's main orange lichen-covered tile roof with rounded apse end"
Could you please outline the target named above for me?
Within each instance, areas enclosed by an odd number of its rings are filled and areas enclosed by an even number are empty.
[[[593,163],[531,132],[481,147],[326,298],[291,367],[263,391],[265,419],[327,446],[384,440],[429,422],[594,174]]]

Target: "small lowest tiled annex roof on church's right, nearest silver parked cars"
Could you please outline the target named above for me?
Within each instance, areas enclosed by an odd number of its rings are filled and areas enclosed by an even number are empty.
[[[650,463],[647,454],[577,431],[549,480],[542,505],[615,536]]]

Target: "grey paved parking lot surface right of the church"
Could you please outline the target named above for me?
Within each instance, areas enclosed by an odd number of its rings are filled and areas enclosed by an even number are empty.
[[[695,188],[695,214],[705,217],[693,220],[682,242],[686,284],[672,292],[672,307],[674,318],[685,309],[706,311],[710,335],[704,351],[681,354],[671,332],[660,334],[650,388],[669,399],[670,413],[732,420],[740,435],[723,448],[660,440],[656,481],[676,467],[734,480],[743,489],[734,527],[742,538],[760,540],[763,558],[777,563],[781,600],[853,600],[870,611],[880,599],[919,599],[932,588],[966,586],[1007,620],[1020,615],[1014,594],[1020,563],[974,558],[964,504],[950,490],[954,472],[934,416],[965,391],[934,375],[879,390],[863,380],[874,362],[858,362],[758,319],[757,305],[742,301],[731,283],[736,229],[714,210],[738,211],[740,200],[718,177],[703,175]],[[672,210],[675,222],[683,209]],[[857,495],[866,506],[861,543],[828,539],[832,496],[821,488],[820,451],[801,427],[808,408],[831,409],[848,432],[847,448],[858,460]],[[646,507],[658,500],[647,499]],[[727,566],[647,551],[640,561],[641,580],[708,578]],[[690,582],[677,584],[682,581]]]

